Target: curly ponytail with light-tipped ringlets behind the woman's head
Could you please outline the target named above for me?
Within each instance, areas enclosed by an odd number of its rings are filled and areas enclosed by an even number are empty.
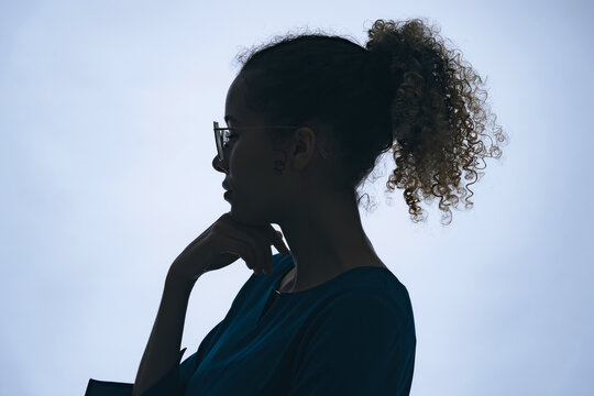
[[[377,20],[367,32],[366,48],[389,59],[396,168],[386,186],[392,191],[404,188],[414,221],[424,220],[418,204],[438,197],[442,221],[450,223],[450,207],[458,209],[460,198],[465,198],[466,209],[473,206],[469,186],[484,175],[479,163],[502,152],[496,143],[487,147],[483,142],[493,140],[483,133],[491,111],[482,98],[486,91],[480,88],[481,77],[446,47],[438,32],[419,19]],[[492,134],[505,142],[495,119]],[[472,182],[464,185],[462,176]]]

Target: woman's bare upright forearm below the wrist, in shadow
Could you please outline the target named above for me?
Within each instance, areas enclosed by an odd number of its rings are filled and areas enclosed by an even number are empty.
[[[134,381],[140,396],[178,364],[188,300],[195,282],[167,274],[158,312]]]

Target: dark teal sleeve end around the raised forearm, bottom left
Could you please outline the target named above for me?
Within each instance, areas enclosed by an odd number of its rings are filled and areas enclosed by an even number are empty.
[[[179,351],[177,364],[175,364],[161,380],[146,389],[142,396],[176,396],[183,395],[186,384],[198,367],[198,364],[202,361],[204,356],[212,346],[216,336],[219,333],[219,329],[222,326],[222,321],[219,322],[210,332],[205,337],[198,351],[186,359],[182,364],[179,361],[187,348]],[[85,396],[132,396],[133,383],[117,383],[109,381],[89,380]]]

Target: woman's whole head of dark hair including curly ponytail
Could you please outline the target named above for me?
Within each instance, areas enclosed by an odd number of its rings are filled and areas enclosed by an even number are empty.
[[[342,169],[337,185],[355,195],[392,148],[387,189],[404,188],[414,222],[426,219],[418,204],[438,197],[449,224],[461,198],[473,207],[470,186],[486,166],[479,164],[499,158],[507,136],[481,77],[438,33],[413,19],[375,21],[364,47],[324,33],[277,36],[238,55],[240,73],[251,72],[246,102],[271,124],[323,125],[320,136],[328,129]],[[276,140],[287,132],[270,133]]]

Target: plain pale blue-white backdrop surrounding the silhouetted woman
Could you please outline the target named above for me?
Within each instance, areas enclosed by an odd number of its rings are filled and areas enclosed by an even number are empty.
[[[393,163],[366,189],[415,310],[411,394],[594,394],[593,6],[437,0],[2,1],[0,394],[134,381],[168,266],[230,209],[212,120],[240,50],[307,28],[364,44],[376,19],[417,16],[487,78],[510,143],[447,228],[437,202],[426,224],[402,190],[386,205]],[[198,280],[184,359],[251,274]]]

